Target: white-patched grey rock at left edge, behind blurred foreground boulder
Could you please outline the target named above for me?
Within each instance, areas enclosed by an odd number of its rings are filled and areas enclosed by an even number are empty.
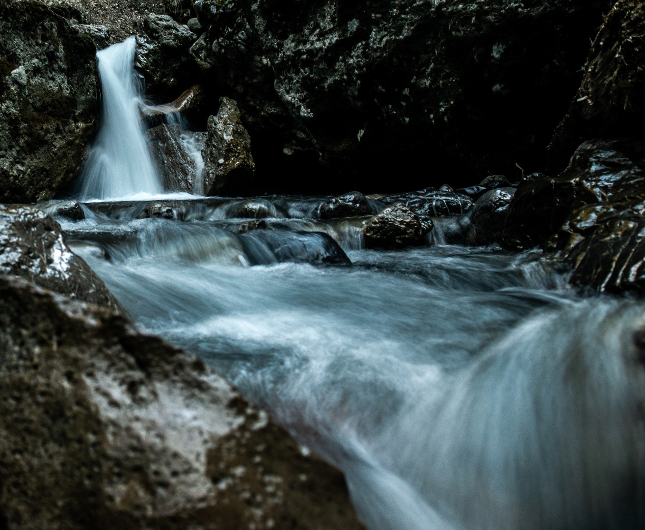
[[[61,226],[37,208],[0,204],[0,272],[122,311],[103,280],[67,246]]]

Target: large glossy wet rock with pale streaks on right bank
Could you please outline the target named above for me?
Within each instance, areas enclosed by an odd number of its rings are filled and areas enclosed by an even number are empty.
[[[571,283],[645,290],[645,148],[640,140],[584,142],[558,177],[522,182],[507,221],[510,248],[556,251]]]

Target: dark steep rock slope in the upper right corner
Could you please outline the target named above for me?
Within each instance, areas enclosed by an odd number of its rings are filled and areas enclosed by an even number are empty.
[[[561,170],[583,141],[642,135],[645,120],[645,3],[620,0],[591,46],[581,87],[549,148]]]

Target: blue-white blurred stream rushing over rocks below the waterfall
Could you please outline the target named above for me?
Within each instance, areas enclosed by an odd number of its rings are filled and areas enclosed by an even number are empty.
[[[575,291],[536,251],[367,250],[365,219],[320,204],[88,202],[60,221],[142,329],[339,466],[370,530],[642,528],[642,302]]]

